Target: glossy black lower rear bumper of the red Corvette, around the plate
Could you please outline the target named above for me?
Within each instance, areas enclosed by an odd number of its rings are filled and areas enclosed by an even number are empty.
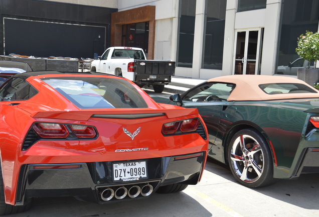
[[[113,181],[112,163],[115,161],[24,164],[20,169],[18,179],[16,205],[23,205],[24,201],[30,197],[48,196],[75,196],[85,201],[105,203],[147,197],[163,185],[197,184],[204,170],[206,155],[206,152],[198,152],[126,161],[146,161],[148,177],[144,180],[125,182]],[[131,188],[131,193],[125,194],[123,198],[116,198],[115,195],[111,198],[106,196],[108,192],[113,191],[114,193],[116,190],[123,191],[125,189],[129,191]],[[144,189],[144,192],[141,191],[136,195],[138,188]]]

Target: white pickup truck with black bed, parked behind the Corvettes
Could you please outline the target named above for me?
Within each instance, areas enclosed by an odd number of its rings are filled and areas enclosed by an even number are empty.
[[[91,71],[122,76],[140,87],[152,85],[155,92],[162,92],[175,73],[175,62],[146,60],[141,48],[110,47],[100,57],[94,54]]]

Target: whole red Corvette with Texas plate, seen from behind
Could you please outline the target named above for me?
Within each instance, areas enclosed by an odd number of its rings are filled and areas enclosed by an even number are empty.
[[[25,72],[0,88],[0,214],[32,197],[106,203],[201,179],[207,129],[195,108],[157,104],[127,79]],[[3,185],[2,185],[3,183]]]

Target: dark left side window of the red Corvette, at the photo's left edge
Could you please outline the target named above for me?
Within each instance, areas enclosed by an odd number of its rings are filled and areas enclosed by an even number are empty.
[[[25,79],[12,78],[0,89],[0,100],[27,100],[37,93],[38,90],[31,86]]]

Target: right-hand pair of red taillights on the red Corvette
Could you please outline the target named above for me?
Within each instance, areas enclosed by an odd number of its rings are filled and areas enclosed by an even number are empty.
[[[162,133],[165,135],[175,134],[178,131],[182,133],[194,132],[197,130],[200,121],[198,119],[188,119],[178,122],[170,122],[163,125]]]

